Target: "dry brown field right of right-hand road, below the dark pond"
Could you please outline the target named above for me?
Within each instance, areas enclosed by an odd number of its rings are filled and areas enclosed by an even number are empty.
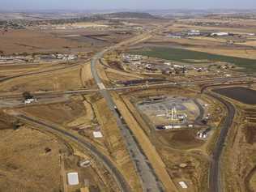
[[[226,191],[252,192],[256,189],[256,132],[255,105],[236,105],[237,114],[228,135],[224,151],[224,170]]]

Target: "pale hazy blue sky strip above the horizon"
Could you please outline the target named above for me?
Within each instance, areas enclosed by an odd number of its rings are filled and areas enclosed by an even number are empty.
[[[0,0],[5,9],[256,9],[256,0]]]

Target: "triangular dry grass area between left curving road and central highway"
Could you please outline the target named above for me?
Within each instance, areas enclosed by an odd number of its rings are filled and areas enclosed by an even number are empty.
[[[105,100],[100,99],[99,96],[76,96],[63,103],[30,106],[19,109],[19,111],[47,122],[53,122],[79,138],[90,141],[113,160],[133,191],[141,191],[139,177],[126,151],[117,122],[107,108]],[[99,129],[104,137],[95,139],[92,131]],[[94,166],[98,169],[98,165]]]

